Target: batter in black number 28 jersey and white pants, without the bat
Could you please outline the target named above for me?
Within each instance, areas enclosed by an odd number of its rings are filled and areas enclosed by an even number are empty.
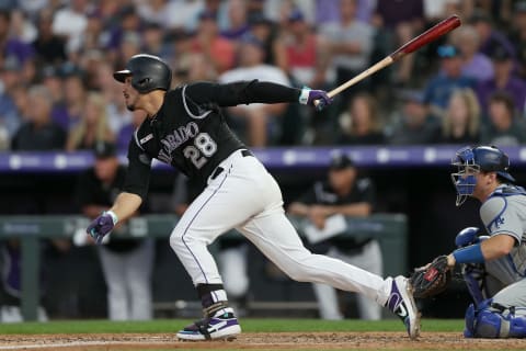
[[[291,279],[362,293],[397,314],[409,336],[416,338],[420,316],[408,279],[382,279],[308,251],[284,214],[276,181],[232,134],[220,113],[220,107],[249,103],[313,106],[315,100],[321,100],[327,105],[332,102],[327,92],[258,80],[196,82],[170,90],[171,77],[169,66],[150,55],[132,57],[125,69],[114,73],[123,83],[127,107],[144,110],[147,118],[129,141],[123,192],[87,231],[100,242],[118,220],[139,208],[147,194],[152,159],[205,184],[170,236],[170,246],[192,278],[204,312],[203,319],[179,331],[178,337],[231,339],[241,332],[207,250],[218,236],[236,228]]]

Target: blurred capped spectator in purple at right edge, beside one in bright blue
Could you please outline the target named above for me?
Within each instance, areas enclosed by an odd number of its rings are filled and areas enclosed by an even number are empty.
[[[489,100],[496,91],[505,91],[515,102],[515,110],[525,111],[526,102],[526,81],[514,75],[513,57],[504,46],[495,46],[491,53],[491,59],[495,68],[493,79],[478,84],[477,93],[480,104],[484,111],[488,111]]]

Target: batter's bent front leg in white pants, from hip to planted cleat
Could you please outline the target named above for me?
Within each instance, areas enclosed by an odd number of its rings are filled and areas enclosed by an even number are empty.
[[[221,163],[224,171],[190,205],[170,237],[170,245],[191,275],[205,313],[203,320],[178,333],[181,339],[216,339],[240,332],[207,245],[261,212],[264,189],[254,180],[256,174],[251,174],[255,158],[236,152],[227,161]]]

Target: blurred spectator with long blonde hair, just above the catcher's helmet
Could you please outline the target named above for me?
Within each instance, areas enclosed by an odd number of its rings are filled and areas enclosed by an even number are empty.
[[[456,90],[442,118],[442,135],[437,143],[476,145],[480,136],[480,105],[474,92]]]

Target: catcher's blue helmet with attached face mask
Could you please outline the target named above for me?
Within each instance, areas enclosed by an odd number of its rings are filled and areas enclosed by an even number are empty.
[[[456,152],[451,165],[458,167],[458,172],[451,173],[451,180],[457,190],[457,206],[473,193],[478,172],[496,172],[504,182],[515,182],[515,178],[507,172],[510,158],[495,146],[461,148]]]

